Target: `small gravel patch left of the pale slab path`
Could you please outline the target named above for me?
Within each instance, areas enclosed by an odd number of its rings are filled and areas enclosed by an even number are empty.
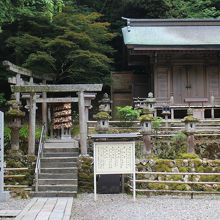
[[[7,202],[0,202],[0,210],[22,210],[30,199],[10,198]]]

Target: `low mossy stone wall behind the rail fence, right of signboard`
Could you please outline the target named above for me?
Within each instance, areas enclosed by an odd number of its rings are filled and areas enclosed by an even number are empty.
[[[138,160],[137,171],[157,171],[157,172],[195,172],[195,173],[220,173],[220,160],[207,159],[150,159]],[[196,191],[220,191],[219,184],[187,184],[189,181],[195,182],[220,182],[220,176],[214,175],[155,175],[138,174],[137,179],[164,180],[164,181],[184,181],[185,184],[178,183],[138,183],[138,189],[155,190],[196,190]]]

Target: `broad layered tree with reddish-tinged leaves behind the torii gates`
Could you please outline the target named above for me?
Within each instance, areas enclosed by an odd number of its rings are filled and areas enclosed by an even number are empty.
[[[19,15],[2,26],[4,59],[38,74],[55,74],[56,82],[109,83],[114,34],[98,13],[64,8],[52,22],[42,14]]]

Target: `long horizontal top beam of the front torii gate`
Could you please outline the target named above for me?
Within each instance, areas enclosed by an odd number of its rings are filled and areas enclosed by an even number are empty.
[[[63,85],[28,85],[11,86],[12,92],[36,93],[36,92],[98,92],[102,90],[102,84],[63,84]]]

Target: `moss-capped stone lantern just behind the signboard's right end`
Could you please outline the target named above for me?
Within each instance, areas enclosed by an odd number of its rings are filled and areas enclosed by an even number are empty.
[[[144,142],[144,155],[150,155],[152,151],[151,133],[152,133],[152,121],[154,117],[152,112],[148,108],[143,109],[143,115],[139,117],[141,123],[141,133],[143,135]]]

